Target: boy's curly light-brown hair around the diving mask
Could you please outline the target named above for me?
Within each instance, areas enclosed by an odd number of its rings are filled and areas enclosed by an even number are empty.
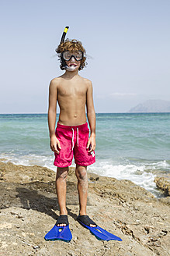
[[[84,57],[81,60],[81,65],[78,70],[83,69],[87,65],[87,62],[85,62],[85,60],[86,60],[85,48],[82,46],[81,41],[78,41],[75,39],[72,39],[72,40],[66,39],[66,41],[64,41],[63,43],[58,45],[58,47],[55,51],[58,54],[60,54],[61,52],[64,52],[64,51],[70,51],[70,52],[82,51],[84,53]],[[61,69],[63,70],[64,66],[63,66],[62,60],[60,59],[60,61],[61,61]]]

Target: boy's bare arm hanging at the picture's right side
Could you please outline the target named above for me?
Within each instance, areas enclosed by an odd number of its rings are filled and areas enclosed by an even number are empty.
[[[88,139],[87,148],[90,147],[88,152],[92,152],[95,150],[95,108],[94,108],[93,98],[92,98],[92,82],[91,81],[88,81],[86,106],[87,106],[88,123],[91,131],[90,137]]]

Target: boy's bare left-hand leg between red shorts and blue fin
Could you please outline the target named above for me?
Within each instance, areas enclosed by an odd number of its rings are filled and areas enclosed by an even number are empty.
[[[68,176],[68,167],[57,167],[56,174],[56,192],[57,199],[60,208],[60,215],[68,215],[66,208],[66,179]],[[58,226],[66,226],[65,224],[60,224]]]

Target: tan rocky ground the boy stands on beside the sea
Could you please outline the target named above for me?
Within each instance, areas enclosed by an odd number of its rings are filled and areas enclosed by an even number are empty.
[[[88,173],[88,215],[123,241],[97,240],[76,221],[78,194],[73,168],[67,190],[73,239],[70,243],[47,242],[43,237],[59,215],[54,180],[50,169],[0,162],[1,256],[170,255],[170,197],[158,199],[130,180]]]

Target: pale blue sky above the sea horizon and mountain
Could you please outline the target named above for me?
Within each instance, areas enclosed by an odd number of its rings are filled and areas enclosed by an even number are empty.
[[[54,49],[64,27],[82,41],[96,112],[127,112],[170,100],[170,1],[6,0],[0,2],[0,113],[47,112]]]

